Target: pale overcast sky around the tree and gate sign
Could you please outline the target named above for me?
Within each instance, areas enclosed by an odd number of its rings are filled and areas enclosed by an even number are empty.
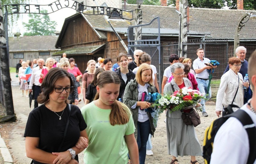
[[[38,2],[30,2],[30,4],[44,5],[44,4],[51,4],[55,1],[56,0],[38,0]],[[60,0],[60,2],[63,2],[63,0],[62,1]],[[56,30],[60,31],[65,18],[67,18],[75,13],[76,13],[76,11],[74,9],[63,8],[61,10],[58,10],[54,13],[49,14],[49,17],[52,21],[56,21],[56,23],[57,23]],[[24,32],[26,32],[26,29],[24,28],[22,22],[28,23],[28,19],[29,19],[28,14],[20,14],[20,16],[21,16],[21,18],[18,20],[18,23],[12,29],[13,33],[20,32],[21,34],[23,34]]]

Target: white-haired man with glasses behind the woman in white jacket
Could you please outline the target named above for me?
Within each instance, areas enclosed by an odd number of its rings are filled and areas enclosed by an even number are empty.
[[[241,73],[244,78],[244,76],[245,76],[245,74],[247,74],[247,70],[248,70],[248,62],[245,60],[246,48],[244,46],[237,47],[236,55],[237,55],[237,58],[239,58],[241,60],[242,65],[241,65],[241,69],[240,69],[239,73]],[[227,68],[224,71],[224,73],[228,72],[228,70],[229,70],[229,64],[227,65]]]

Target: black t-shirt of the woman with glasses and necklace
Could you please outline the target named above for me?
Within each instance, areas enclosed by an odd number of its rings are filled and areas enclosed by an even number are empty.
[[[34,108],[28,116],[24,137],[39,137],[39,149],[50,153],[58,152],[69,115],[68,108],[69,106],[67,105],[63,114],[62,111],[56,112],[59,116],[62,114],[61,120],[45,105]],[[86,127],[87,125],[79,107],[71,105],[69,126],[60,152],[67,151],[75,146],[80,137],[80,131],[85,130]],[[78,160],[77,155],[76,158]],[[40,164],[40,162],[34,161],[34,164]]]

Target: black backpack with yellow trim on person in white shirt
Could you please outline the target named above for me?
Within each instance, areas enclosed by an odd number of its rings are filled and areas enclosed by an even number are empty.
[[[234,106],[234,105],[233,105]],[[238,107],[238,106],[236,106]],[[231,107],[232,108],[232,107]],[[218,132],[219,128],[227,121],[230,117],[236,117],[244,126],[248,134],[249,139],[249,158],[247,164],[253,164],[256,159],[256,127],[253,123],[251,117],[244,111],[244,110],[237,110],[229,115],[224,117],[218,118],[212,121],[210,127],[205,130],[204,140],[203,140],[203,158],[205,164],[210,164],[211,155],[213,151],[213,141],[215,138],[216,133]],[[253,125],[253,126],[246,126],[245,125]]]

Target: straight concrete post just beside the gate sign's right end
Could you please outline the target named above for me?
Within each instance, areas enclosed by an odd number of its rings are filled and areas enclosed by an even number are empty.
[[[138,5],[138,9],[135,10],[136,25],[141,25],[141,23],[142,23],[142,10],[140,9],[140,6],[142,5],[143,0],[136,0],[136,3]],[[135,40],[138,41],[138,40],[142,39],[141,33],[142,33],[141,27],[136,27],[135,28]]]

